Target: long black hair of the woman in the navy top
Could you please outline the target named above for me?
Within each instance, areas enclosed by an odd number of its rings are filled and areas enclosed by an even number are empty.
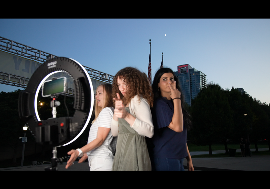
[[[190,121],[190,115],[189,113],[185,110],[185,101],[184,101],[184,96],[182,94],[180,85],[179,85],[179,80],[176,77],[176,75],[174,74],[173,70],[171,70],[170,68],[167,67],[163,67],[161,69],[159,69],[157,71],[157,73],[155,74],[155,78],[152,84],[152,90],[154,93],[154,103],[155,101],[161,97],[161,92],[158,90],[158,83],[160,82],[160,78],[164,73],[172,73],[174,80],[176,81],[176,88],[181,92],[181,107],[182,107],[182,112],[183,112],[183,117],[184,117],[184,125],[187,128],[187,130],[189,130],[189,128],[191,127],[191,121]]]

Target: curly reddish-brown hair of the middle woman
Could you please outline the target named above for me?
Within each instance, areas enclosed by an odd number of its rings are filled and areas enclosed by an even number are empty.
[[[123,79],[127,83],[127,92],[125,97],[122,95],[118,88],[117,79]],[[119,93],[121,100],[125,105],[127,105],[131,98],[135,95],[140,95],[148,101],[150,107],[153,107],[153,92],[152,87],[149,84],[146,74],[143,74],[140,70],[137,70],[134,67],[125,67],[113,78],[113,97],[117,98],[116,93]]]

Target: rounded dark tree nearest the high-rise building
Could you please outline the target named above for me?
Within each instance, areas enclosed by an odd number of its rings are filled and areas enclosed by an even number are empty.
[[[190,130],[192,142],[196,145],[208,145],[209,155],[212,155],[211,145],[221,141],[228,153],[226,139],[232,127],[228,91],[219,84],[207,83],[191,101],[190,114],[193,125]]]

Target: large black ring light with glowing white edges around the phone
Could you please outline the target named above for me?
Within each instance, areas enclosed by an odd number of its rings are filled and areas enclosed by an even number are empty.
[[[55,73],[65,72],[75,85],[73,117],[49,118],[38,116],[38,93],[44,81]],[[87,127],[94,106],[94,91],[85,68],[76,60],[56,57],[41,64],[33,73],[25,91],[19,94],[19,117],[31,128],[38,143],[66,146],[76,140]]]

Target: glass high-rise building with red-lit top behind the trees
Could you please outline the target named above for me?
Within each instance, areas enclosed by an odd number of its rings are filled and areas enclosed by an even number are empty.
[[[185,102],[191,105],[191,99],[195,98],[199,91],[205,87],[206,75],[189,64],[177,66],[174,72],[180,81]]]

